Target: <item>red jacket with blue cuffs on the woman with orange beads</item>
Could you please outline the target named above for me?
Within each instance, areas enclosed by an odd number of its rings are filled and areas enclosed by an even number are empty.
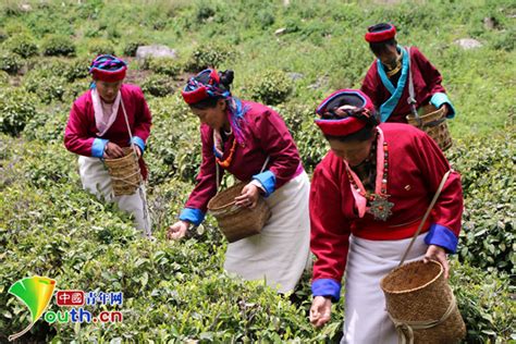
[[[239,122],[243,142],[236,145],[232,162],[226,170],[241,181],[260,181],[267,192],[271,193],[303,171],[299,153],[283,119],[275,111],[250,101],[243,101],[243,107],[247,108],[244,119]],[[233,135],[224,143],[221,160],[225,160],[230,153]],[[217,194],[213,130],[201,125],[200,138],[202,162],[197,175],[197,185],[189,195],[186,209],[180,216],[180,219],[196,224],[202,221],[208,201]],[[267,157],[270,157],[269,163],[265,172],[260,173]],[[219,169],[222,179],[224,169]]]

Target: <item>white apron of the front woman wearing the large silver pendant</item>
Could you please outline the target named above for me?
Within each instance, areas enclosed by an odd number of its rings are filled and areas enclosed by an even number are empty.
[[[427,253],[427,233],[420,234],[406,262],[420,260]],[[397,344],[397,332],[385,310],[380,280],[402,259],[410,238],[370,241],[349,237],[345,273],[344,336],[348,344]]]

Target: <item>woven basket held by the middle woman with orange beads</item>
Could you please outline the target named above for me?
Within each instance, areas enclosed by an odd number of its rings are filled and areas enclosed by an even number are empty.
[[[219,228],[230,243],[259,234],[271,217],[271,210],[262,197],[258,198],[255,208],[235,206],[246,183],[237,183],[218,193],[208,202],[208,210],[219,222]]]

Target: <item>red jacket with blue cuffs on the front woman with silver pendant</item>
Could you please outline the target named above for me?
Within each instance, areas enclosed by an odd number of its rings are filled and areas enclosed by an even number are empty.
[[[417,225],[397,225],[417,224],[443,175],[450,170],[443,153],[426,133],[411,125],[397,123],[383,123],[380,128],[389,147],[386,194],[390,195],[389,201],[394,204],[393,213],[385,222],[374,220],[369,213],[361,219],[358,217],[345,164],[332,151],[328,152],[314,172],[310,191],[310,246],[317,256],[312,282],[315,295],[318,292],[319,295],[329,293],[337,298],[328,288],[325,292],[318,290],[318,284],[328,286],[328,281],[324,280],[331,280],[331,285],[340,285],[352,233],[376,241],[411,237]],[[429,233],[426,243],[455,251],[462,212],[460,176],[457,172],[452,172],[433,207],[430,225],[423,228],[423,232]]]

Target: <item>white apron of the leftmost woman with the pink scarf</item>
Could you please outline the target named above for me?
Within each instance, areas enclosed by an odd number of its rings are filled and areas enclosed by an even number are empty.
[[[134,216],[135,224],[138,230],[148,236],[151,234],[150,217],[144,210],[144,201],[142,198],[146,197],[145,187],[143,185],[140,186],[143,188],[143,195],[140,195],[139,189],[136,189],[133,195],[114,196],[111,177],[105,164],[98,158],[78,157],[78,173],[84,189],[96,195],[99,199],[103,198],[107,201],[116,202],[121,210]]]

